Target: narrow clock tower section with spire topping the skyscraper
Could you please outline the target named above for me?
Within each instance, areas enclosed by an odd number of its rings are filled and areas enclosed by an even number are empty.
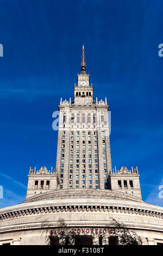
[[[90,86],[90,75],[86,74],[86,64],[83,45],[83,56],[81,63],[81,73],[77,75],[77,85],[74,85],[74,104],[92,105],[93,87]]]

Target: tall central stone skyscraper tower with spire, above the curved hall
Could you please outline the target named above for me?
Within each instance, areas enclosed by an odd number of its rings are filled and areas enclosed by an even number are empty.
[[[56,170],[59,189],[108,189],[111,170],[109,121],[105,101],[93,101],[83,45],[74,100],[60,101]]]

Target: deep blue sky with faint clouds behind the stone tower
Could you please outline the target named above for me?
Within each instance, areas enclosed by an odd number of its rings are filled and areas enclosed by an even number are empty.
[[[0,208],[26,198],[29,167],[55,167],[52,113],[73,98],[85,45],[94,97],[108,99],[112,167],[138,167],[142,198],[163,206],[161,0],[1,0]]]

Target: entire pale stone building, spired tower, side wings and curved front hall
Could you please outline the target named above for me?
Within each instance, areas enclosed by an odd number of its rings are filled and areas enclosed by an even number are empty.
[[[73,102],[59,105],[56,170],[30,168],[26,200],[0,209],[0,245],[47,245],[59,218],[76,235],[94,234],[96,245],[105,231],[102,244],[110,244],[112,218],[143,245],[163,244],[163,208],[141,199],[137,167],[111,168],[109,106],[93,101],[84,47],[77,79]]]

